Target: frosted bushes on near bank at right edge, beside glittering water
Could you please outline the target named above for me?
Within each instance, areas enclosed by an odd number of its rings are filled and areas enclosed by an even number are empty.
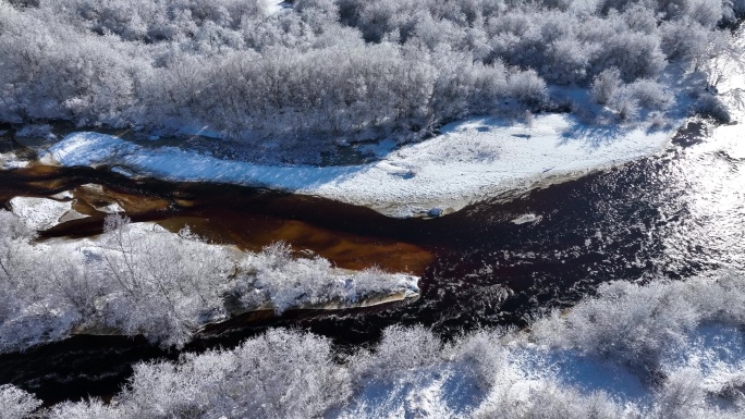
[[[652,379],[665,353],[683,345],[699,325],[745,324],[745,276],[652,282],[611,282],[569,313],[533,325],[544,342],[623,362]]]

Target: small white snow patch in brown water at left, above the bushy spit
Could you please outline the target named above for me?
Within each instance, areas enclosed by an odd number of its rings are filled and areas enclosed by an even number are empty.
[[[75,219],[85,218],[72,209],[72,201],[60,202],[48,198],[15,197],[10,200],[11,211],[34,230],[47,230]]]

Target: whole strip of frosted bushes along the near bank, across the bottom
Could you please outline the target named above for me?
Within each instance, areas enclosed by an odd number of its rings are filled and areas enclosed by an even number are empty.
[[[93,399],[36,410],[38,402],[12,386],[0,387],[0,400],[17,418],[36,411],[60,419],[737,418],[745,409],[737,350],[745,344],[728,334],[745,325],[744,285],[745,276],[732,272],[612,282],[527,331],[483,330],[444,343],[425,328],[394,325],[375,347],[346,356],[334,356],[325,337],[269,330],[233,349],[138,365],[109,405]],[[697,332],[716,326],[725,334]],[[587,374],[576,375],[576,366],[588,361],[630,367],[644,395],[619,396],[624,389],[583,381]]]

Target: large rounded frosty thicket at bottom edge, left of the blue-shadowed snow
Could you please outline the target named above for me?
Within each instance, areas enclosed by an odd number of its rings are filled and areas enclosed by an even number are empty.
[[[272,330],[230,352],[139,365],[117,402],[132,418],[315,418],[350,393],[328,340]]]

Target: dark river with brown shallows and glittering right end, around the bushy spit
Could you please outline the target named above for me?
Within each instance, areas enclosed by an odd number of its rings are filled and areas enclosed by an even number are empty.
[[[135,221],[160,221],[172,230],[188,224],[246,249],[284,239],[340,267],[378,264],[420,275],[422,296],[410,304],[280,318],[257,313],[212,328],[185,348],[231,347],[268,326],[290,326],[330,336],[346,352],[375,343],[391,324],[422,323],[444,338],[481,326],[525,326],[606,281],[745,269],[745,141],[715,139],[699,128],[680,134],[660,156],[432,220],[395,220],[245,187],[133,181],[105,168],[2,172],[0,201],[97,183],[127,204]],[[76,193],[81,200],[97,199],[84,195]],[[525,214],[528,222],[512,222]],[[97,234],[101,222],[100,215],[76,220],[42,238]],[[126,382],[132,363],[178,356],[142,338],[75,336],[1,355],[0,383],[47,403],[106,397]]]

